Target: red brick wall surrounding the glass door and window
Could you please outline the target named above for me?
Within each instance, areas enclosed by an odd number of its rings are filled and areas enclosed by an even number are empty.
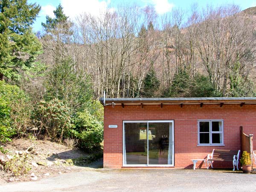
[[[225,146],[197,146],[198,119],[223,119]],[[212,149],[240,149],[240,126],[254,134],[256,149],[256,105],[121,105],[104,109],[104,167],[122,167],[123,120],[174,120],[175,168],[192,168],[191,159],[204,159]],[[108,128],[117,125],[118,128]],[[205,168],[198,162],[197,166]],[[231,163],[214,163],[214,167],[233,167]]]

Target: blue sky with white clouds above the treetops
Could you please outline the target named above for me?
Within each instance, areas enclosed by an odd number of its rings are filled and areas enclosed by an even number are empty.
[[[223,3],[235,3],[242,10],[256,6],[256,0],[28,0],[28,2],[37,3],[41,6],[41,12],[33,24],[33,30],[35,32],[41,31],[41,22],[45,22],[46,15],[53,17],[53,10],[60,3],[63,6],[64,13],[71,19],[83,12],[97,15],[99,14],[99,10],[104,10],[107,7],[115,9],[116,6],[124,3],[136,3],[141,7],[152,5],[159,15],[170,11],[173,7],[189,9],[194,3],[198,3],[200,7],[205,7],[207,4],[220,6]]]

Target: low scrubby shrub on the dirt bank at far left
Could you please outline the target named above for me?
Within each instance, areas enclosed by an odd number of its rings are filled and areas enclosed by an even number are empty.
[[[4,165],[4,170],[14,176],[24,175],[31,169],[29,163],[29,154],[15,154],[12,159],[8,160]]]

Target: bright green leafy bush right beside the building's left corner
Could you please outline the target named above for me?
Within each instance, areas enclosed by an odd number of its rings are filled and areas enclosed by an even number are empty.
[[[99,121],[87,109],[78,112],[74,119],[76,128],[71,130],[72,137],[78,139],[78,147],[91,151],[100,148],[103,140],[103,122]]]

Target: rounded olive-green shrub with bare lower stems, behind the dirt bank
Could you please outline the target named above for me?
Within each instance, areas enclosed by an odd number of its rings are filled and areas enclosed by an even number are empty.
[[[70,109],[58,99],[52,99],[49,102],[41,101],[38,105],[37,114],[41,128],[47,131],[47,136],[56,139],[64,131],[72,127],[70,118]]]

